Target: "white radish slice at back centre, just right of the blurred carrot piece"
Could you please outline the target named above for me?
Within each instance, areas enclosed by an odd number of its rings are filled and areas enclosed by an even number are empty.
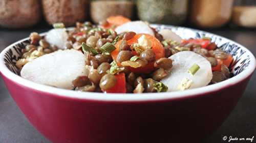
[[[137,34],[145,33],[155,36],[154,31],[151,29],[151,27],[143,21],[131,21],[124,23],[116,27],[115,31],[117,32],[117,34],[120,34],[122,32],[135,32]]]

